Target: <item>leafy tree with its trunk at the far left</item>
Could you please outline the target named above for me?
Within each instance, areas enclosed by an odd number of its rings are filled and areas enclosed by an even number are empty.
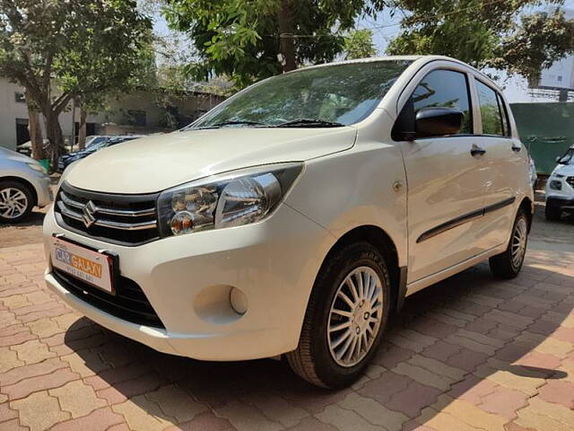
[[[63,144],[58,116],[73,98],[95,104],[147,79],[151,27],[135,0],[0,0],[0,75],[44,115],[52,162]]]

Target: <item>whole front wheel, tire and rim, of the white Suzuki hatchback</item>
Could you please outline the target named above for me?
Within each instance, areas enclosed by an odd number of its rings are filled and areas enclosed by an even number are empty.
[[[387,264],[378,250],[358,242],[336,251],[317,277],[289,365],[324,388],[353,383],[377,350],[389,309]]]

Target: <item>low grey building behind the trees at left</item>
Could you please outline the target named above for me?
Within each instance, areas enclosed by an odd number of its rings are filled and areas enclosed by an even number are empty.
[[[157,100],[150,92],[135,92],[120,100],[111,101],[109,110],[87,118],[87,135],[139,135],[181,128],[213,108],[223,99],[207,92],[187,92],[184,97],[169,103]],[[163,105],[163,106],[161,106]],[[166,106],[167,105],[167,106]],[[80,110],[70,104],[60,115],[65,140],[77,136]],[[46,137],[43,119],[42,134]],[[0,145],[14,149],[30,140],[28,108],[24,91],[19,85],[0,78]]]

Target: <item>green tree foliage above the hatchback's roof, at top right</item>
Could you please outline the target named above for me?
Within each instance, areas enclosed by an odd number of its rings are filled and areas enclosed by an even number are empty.
[[[574,22],[562,0],[397,0],[402,31],[389,54],[439,54],[478,68],[493,67],[536,81],[541,68],[574,52]],[[528,13],[530,11],[530,13]]]

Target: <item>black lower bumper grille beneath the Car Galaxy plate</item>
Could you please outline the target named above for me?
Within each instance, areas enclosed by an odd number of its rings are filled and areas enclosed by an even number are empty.
[[[116,295],[110,295],[58,268],[52,268],[52,275],[65,290],[102,312],[108,312],[112,316],[138,325],[165,329],[142,288],[134,280],[118,277],[118,286],[115,286]]]

